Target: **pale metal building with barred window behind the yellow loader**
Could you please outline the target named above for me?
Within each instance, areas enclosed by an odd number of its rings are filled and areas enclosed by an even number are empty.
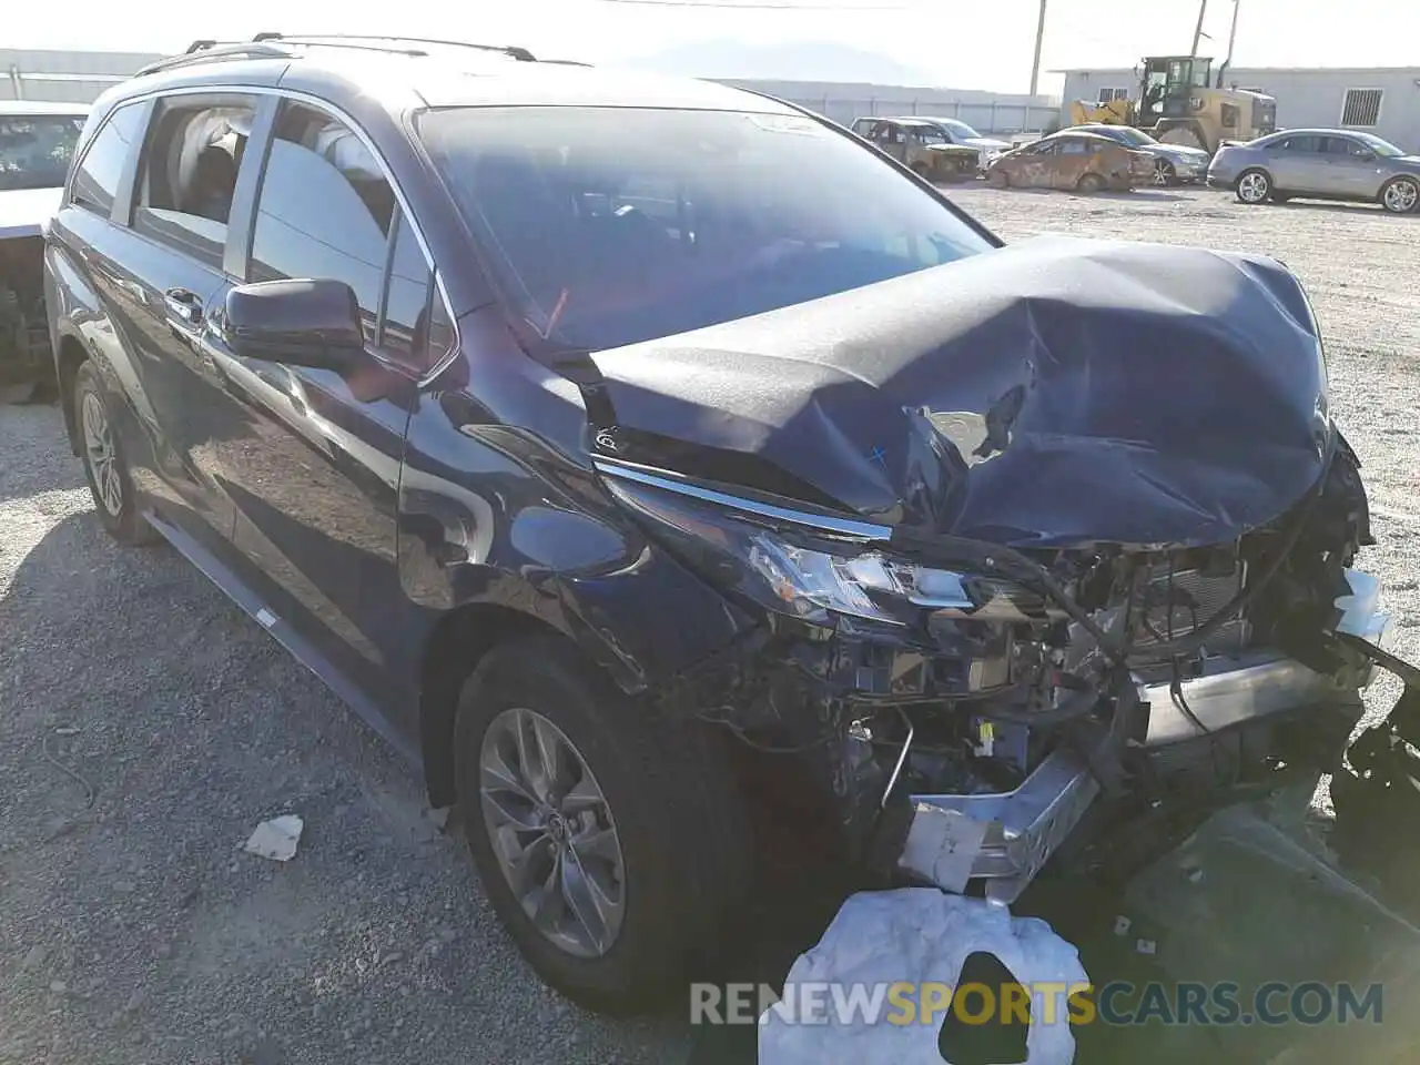
[[[1132,70],[1059,72],[1065,74],[1062,122],[1069,122],[1071,101],[1139,92]],[[1420,151],[1420,67],[1230,67],[1224,84],[1277,97],[1278,128],[1365,129]]]

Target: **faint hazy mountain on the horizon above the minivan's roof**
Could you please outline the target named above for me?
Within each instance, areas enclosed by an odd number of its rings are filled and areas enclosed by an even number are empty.
[[[880,85],[932,85],[937,81],[930,74],[886,55],[834,41],[699,41],[623,60],[619,65],[697,78],[863,81]]]

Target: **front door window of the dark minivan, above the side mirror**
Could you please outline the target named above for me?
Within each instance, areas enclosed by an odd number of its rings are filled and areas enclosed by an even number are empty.
[[[345,281],[375,341],[393,214],[395,192],[355,132],[287,101],[257,199],[247,280]]]

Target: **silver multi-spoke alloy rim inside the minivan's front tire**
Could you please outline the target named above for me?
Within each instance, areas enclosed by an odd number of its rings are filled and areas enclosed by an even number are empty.
[[[601,957],[621,932],[626,863],[586,760],[542,714],[504,710],[479,755],[483,819],[528,920],[559,949]]]

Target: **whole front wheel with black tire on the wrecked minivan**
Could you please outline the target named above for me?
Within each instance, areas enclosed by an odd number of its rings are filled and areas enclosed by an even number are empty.
[[[552,638],[494,648],[454,726],[459,808],[493,909],[537,974],[628,1015],[706,963],[753,838],[723,751]]]

